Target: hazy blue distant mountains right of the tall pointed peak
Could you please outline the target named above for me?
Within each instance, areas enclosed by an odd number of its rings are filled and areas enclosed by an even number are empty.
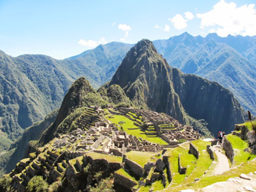
[[[154,41],[172,67],[196,74],[228,88],[244,109],[256,114],[256,37],[183,33]]]

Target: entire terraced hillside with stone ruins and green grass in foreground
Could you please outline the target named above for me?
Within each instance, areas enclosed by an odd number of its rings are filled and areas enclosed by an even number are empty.
[[[50,191],[90,191],[102,184],[116,191],[199,190],[256,170],[253,148],[242,140],[250,127],[244,127],[236,125],[220,146],[163,113],[92,106],[66,134],[17,163],[0,188],[26,191],[42,176]],[[220,150],[228,162],[225,172],[218,170]]]

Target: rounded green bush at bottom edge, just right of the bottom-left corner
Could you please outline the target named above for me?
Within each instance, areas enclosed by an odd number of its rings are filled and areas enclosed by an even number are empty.
[[[42,176],[35,176],[28,182],[27,192],[44,192],[47,191],[48,183]]]

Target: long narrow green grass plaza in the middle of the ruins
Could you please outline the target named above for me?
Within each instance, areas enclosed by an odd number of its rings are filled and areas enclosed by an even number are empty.
[[[132,129],[129,130],[128,128],[138,128],[138,126],[133,124],[132,120],[129,120],[129,118],[122,116],[122,115],[113,115],[113,118],[108,118],[110,122],[113,124],[118,125],[118,122],[124,121],[125,124],[122,125],[123,129],[127,134],[131,134],[132,136],[136,136],[137,138],[142,138],[143,140],[150,141],[152,143],[159,143],[160,145],[168,145],[166,141],[162,140],[159,137],[152,137],[152,136],[147,136],[145,135],[145,132],[140,131],[140,129]],[[121,129],[118,127],[118,129]]]

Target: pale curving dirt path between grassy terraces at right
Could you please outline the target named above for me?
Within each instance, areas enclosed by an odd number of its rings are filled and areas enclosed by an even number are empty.
[[[212,149],[214,150],[216,156],[218,157],[218,164],[214,169],[214,175],[227,172],[229,170],[229,163],[228,163],[227,156],[225,156],[221,152],[220,148],[218,148],[218,145],[215,145],[214,147],[212,147]]]

